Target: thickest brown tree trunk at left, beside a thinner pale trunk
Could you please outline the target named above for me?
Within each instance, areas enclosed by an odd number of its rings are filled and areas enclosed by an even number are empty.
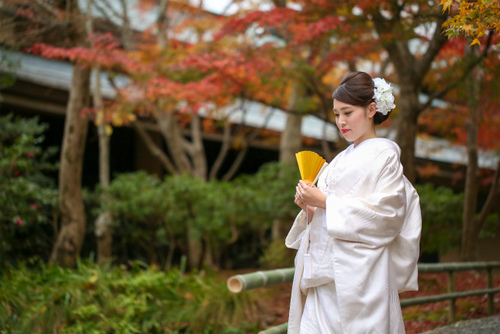
[[[81,194],[82,166],[88,121],[80,116],[89,101],[90,69],[75,65],[64,126],[59,170],[61,229],[50,257],[51,263],[76,266],[85,235]]]

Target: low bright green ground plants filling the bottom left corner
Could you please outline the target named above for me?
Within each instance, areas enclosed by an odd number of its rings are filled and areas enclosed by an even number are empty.
[[[10,268],[0,280],[3,333],[244,333],[253,302],[213,277],[79,263]],[[255,329],[255,328],[254,328]]]

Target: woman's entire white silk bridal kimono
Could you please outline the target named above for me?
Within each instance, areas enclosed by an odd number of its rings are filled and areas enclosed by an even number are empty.
[[[338,154],[318,180],[326,210],[301,211],[288,333],[404,333],[399,292],[418,290],[422,219],[400,148],[373,138]]]

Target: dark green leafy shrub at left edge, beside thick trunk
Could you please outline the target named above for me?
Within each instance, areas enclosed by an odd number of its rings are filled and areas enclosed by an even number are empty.
[[[39,124],[37,118],[15,118],[11,114],[0,117],[2,261],[50,251],[57,190],[44,173],[56,168],[50,163],[56,149],[42,151],[46,130],[47,125]]]

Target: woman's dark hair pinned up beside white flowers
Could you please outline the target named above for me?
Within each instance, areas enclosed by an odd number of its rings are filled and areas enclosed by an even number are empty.
[[[375,102],[373,94],[375,85],[371,75],[365,72],[351,72],[342,78],[337,89],[332,94],[334,100],[338,100],[353,106],[367,107]],[[376,112],[373,116],[373,122],[378,125],[389,118],[389,113],[383,115]]]

